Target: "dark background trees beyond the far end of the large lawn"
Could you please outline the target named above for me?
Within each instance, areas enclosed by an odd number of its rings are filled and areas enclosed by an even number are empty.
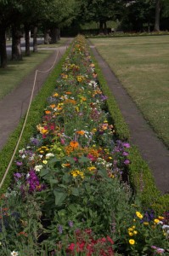
[[[86,0],[81,6],[82,20],[99,22],[99,32],[104,33],[108,20],[119,20],[126,31],[143,31],[147,24],[159,32],[161,20],[169,23],[169,0]]]

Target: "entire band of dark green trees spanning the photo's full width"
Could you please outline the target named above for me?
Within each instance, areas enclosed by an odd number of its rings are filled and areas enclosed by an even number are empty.
[[[121,29],[142,31],[144,23],[160,31],[160,18],[169,17],[169,0],[0,0],[0,58],[7,65],[5,33],[12,29],[12,59],[22,58],[20,38],[25,32],[25,55],[30,55],[29,31],[33,30],[33,49],[37,51],[37,27],[41,25],[44,42],[59,40],[63,26],[96,21],[99,32],[107,33],[108,20],[120,20]]]

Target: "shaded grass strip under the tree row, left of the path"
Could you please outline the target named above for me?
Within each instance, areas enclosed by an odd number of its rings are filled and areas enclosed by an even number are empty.
[[[23,61],[8,61],[8,67],[0,69],[0,100],[14,90],[25,76],[29,75],[50,54],[52,54],[51,50],[43,50],[31,53],[29,57],[23,57]]]

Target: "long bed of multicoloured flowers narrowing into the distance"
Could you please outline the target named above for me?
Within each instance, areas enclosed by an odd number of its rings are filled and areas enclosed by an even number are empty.
[[[2,255],[167,253],[169,216],[143,212],[84,38],[76,38],[42,122],[1,198]]]

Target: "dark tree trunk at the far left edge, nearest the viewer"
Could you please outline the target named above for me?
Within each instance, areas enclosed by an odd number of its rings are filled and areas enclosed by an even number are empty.
[[[3,26],[0,26],[0,59],[1,67],[7,67],[6,37],[5,28]]]

